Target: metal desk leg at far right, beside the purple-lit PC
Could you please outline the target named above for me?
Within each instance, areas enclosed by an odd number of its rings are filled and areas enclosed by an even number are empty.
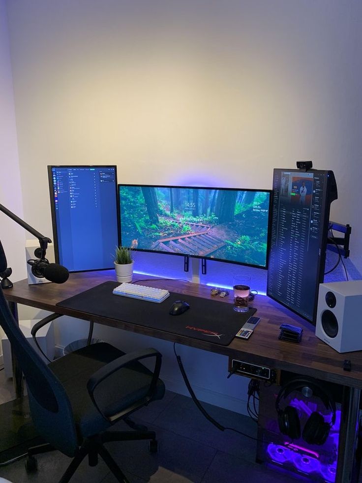
[[[361,389],[343,387],[338,464],[335,483],[356,481],[354,471]]]

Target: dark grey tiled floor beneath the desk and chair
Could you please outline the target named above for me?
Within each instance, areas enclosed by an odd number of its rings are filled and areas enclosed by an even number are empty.
[[[0,372],[0,402],[13,398],[11,380]],[[224,426],[231,426],[256,436],[256,424],[237,413],[204,404],[211,416]],[[162,401],[150,404],[132,416],[135,422],[147,423],[155,430],[159,451],[148,452],[148,443],[108,443],[107,448],[131,483],[283,483],[301,481],[255,463],[256,442],[233,431],[219,431],[202,416],[193,401],[166,392]],[[115,429],[123,427],[118,424]],[[125,429],[129,429],[124,425]],[[24,460],[0,467],[0,476],[13,483],[59,481],[70,458],[59,451],[37,456],[38,471],[27,475]],[[308,481],[302,479],[302,481]],[[99,460],[96,467],[83,461],[71,483],[114,483],[116,479]]]

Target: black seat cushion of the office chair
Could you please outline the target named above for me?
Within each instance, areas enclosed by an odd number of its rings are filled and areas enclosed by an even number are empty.
[[[69,397],[80,441],[106,430],[112,424],[94,406],[87,382],[98,369],[122,355],[124,353],[114,346],[99,342],[49,364]],[[152,372],[140,362],[122,367],[98,386],[95,393],[98,406],[107,417],[127,410],[147,395],[151,378]],[[164,392],[164,384],[158,380],[152,400],[161,399]]]

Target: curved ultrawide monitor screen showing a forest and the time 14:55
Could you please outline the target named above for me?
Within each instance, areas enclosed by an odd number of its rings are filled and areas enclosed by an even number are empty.
[[[271,192],[119,185],[121,245],[267,268]]]

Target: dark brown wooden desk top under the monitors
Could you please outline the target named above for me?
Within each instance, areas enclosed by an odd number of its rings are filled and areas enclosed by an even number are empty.
[[[315,337],[315,328],[312,324],[304,321],[267,296],[257,295],[253,302],[253,306],[258,309],[256,315],[261,318],[261,322],[251,338],[247,341],[234,339],[226,347],[129,322],[102,319],[91,316],[90,314],[56,307],[56,304],[61,300],[90,289],[107,280],[116,280],[114,270],[72,273],[69,276],[69,280],[62,285],[52,283],[28,285],[27,280],[22,280],[16,282],[12,289],[4,290],[4,293],[9,301],[39,309],[118,327],[171,342],[179,342],[180,344],[204,349],[217,354],[232,356],[240,360],[265,365],[274,369],[284,369],[296,374],[311,376],[345,386],[362,388],[362,351],[339,354]],[[159,280],[155,277],[152,278],[144,275],[135,275],[134,281],[137,280],[142,280],[142,285],[148,285],[150,287],[165,288],[183,294],[211,298],[210,287],[204,285],[168,279]],[[219,297],[212,297],[212,299],[219,300],[220,303],[232,303],[232,297],[230,295],[224,299]],[[230,307],[230,310],[232,310],[232,307]],[[283,322],[303,328],[303,337],[300,344],[280,341],[278,339],[279,326]],[[344,359],[351,360],[351,372],[343,370]]]

